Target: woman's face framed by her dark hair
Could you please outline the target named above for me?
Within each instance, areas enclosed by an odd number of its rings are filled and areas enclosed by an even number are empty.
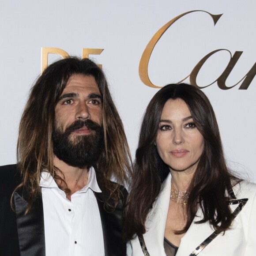
[[[155,144],[170,170],[195,171],[204,139],[182,99],[169,99],[164,105]]]

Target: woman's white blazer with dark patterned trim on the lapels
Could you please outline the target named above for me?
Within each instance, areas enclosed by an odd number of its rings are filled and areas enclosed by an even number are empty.
[[[166,256],[163,246],[166,218],[169,208],[171,175],[166,178],[162,192],[147,217],[147,232],[143,235],[150,256]],[[237,199],[248,198],[241,212],[234,219],[230,230],[220,233],[199,256],[256,256],[256,184],[241,182],[233,187]],[[238,204],[230,205],[234,211]],[[214,232],[209,223],[195,224],[202,219],[197,211],[187,233],[181,238],[176,256],[189,256],[207,237]],[[143,256],[138,237],[127,245],[128,256]]]

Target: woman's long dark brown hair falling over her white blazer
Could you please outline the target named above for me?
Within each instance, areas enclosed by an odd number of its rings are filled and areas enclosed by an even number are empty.
[[[203,218],[197,223],[209,221],[215,230],[222,232],[233,221],[233,215],[226,203],[226,188],[232,187],[231,181],[233,184],[233,181],[238,183],[240,180],[226,166],[211,103],[201,90],[192,85],[169,84],[154,95],[144,114],[131,192],[125,210],[124,238],[127,241],[136,234],[146,232],[147,215],[169,174],[169,168],[159,157],[154,143],[165,103],[169,99],[177,98],[188,105],[196,127],[204,138],[204,150],[188,188],[190,195],[185,208],[187,222],[184,229],[177,230],[176,233],[181,234],[188,230],[199,206],[203,211]]]

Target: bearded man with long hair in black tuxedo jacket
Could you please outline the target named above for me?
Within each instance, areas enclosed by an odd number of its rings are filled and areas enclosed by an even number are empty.
[[[1,256],[126,255],[127,192],[119,184],[131,157],[93,61],[59,60],[38,78],[20,121],[17,159],[0,167]]]

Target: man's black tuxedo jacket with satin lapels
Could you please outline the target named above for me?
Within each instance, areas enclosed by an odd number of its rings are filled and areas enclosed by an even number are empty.
[[[16,165],[0,166],[0,256],[45,256],[45,230],[41,196],[24,216],[28,193],[18,190],[14,194],[15,212],[11,210],[11,194],[20,184]],[[122,239],[123,205],[127,191],[112,212],[107,212],[101,194],[95,193],[102,221],[105,256],[125,256],[126,243]]]

